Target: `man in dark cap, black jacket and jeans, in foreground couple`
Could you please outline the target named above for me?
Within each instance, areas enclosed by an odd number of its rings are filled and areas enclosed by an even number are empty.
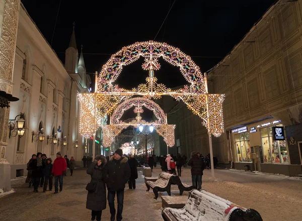
[[[128,182],[131,171],[128,158],[123,156],[123,151],[118,149],[110,158],[105,167],[105,181],[108,188],[108,204],[110,207],[111,217],[110,220],[115,220],[115,206],[114,198],[117,196],[117,221],[122,220],[123,203],[124,203],[124,189],[125,184]]]

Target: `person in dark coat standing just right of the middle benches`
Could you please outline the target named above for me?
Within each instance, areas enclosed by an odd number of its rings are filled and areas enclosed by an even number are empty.
[[[203,175],[202,171],[204,170],[203,160],[198,157],[196,152],[192,152],[188,165],[191,166],[191,175],[192,175],[193,186],[196,186],[196,181],[197,181],[198,190],[201,190],[201,181],[202,181],[202,175]]]

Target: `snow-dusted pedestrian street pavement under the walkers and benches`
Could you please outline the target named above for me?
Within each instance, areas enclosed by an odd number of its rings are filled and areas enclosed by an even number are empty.
[[[158,176],[155,169],[153,176]],[[210,170],[204,171],[202,188],[220,197],[229,199],[241,206],[254,208],[263,220],[300,220],[302,204],[302,181],[285,176],[253,174],[237,170],[215,170],[215,180]],[[123,220],[162,220],[161,195],[154,200],[154,194],[146,192],[142,173],[139,172],[137,188],[125,188]],[[190,170],[184,169],[182,181],[190,182]],[[90,210],[86,209],[86,184],[90,176],[86,170],[77,169],[71,177],[64,177],[63,191],[53,194],[47,191],[33,193],[24,183],[25,178],[12,181],[15,193],[0,198],[0,220],[90,220]],[[176,186],[172,186],[172,195],[178,195]],[[184,192],[188,195],[188,192]],[[276,204],[276,201],[282,203]],[[41,214],[41,215],[38,215]],[[272,218],[273,217],[273,218]],[[109,220],[109,206],[103,211],[102,220]]]

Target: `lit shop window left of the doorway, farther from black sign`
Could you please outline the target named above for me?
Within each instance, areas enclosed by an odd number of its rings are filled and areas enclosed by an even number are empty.
[[[235,147],[238,162],[252,162],[249,133],[236,134]]]

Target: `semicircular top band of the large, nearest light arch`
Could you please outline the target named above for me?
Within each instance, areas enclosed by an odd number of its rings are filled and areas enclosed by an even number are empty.
[[[113,91],[115,88],[112,83],[122,71],[123,66],[131,64],[140,56],[145,58],[145,63],[142,64],[144,70],[158,70],[160,68],[158,59],[162,57],[165,61],[180,68],[185,79],[191,83],[192,92],[206,92],[204,78],[190,56],[171,45],[154,41],[137,42],[123,47],[112,55],[102,68],[98,79],[98,92]]]

